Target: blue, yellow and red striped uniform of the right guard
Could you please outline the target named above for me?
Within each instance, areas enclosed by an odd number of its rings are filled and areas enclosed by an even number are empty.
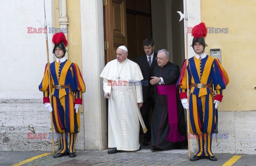
[[[186,68],[187,66],[187,68]],[[187,98],[187,75],[189,82],[189,115],[190,133],[197,135],[198,156],[213,156],[211,152],[211,134],[218,133],[218,111],[215,110],[213,100],[222,100],[222,91],[229,82],[228,75],[218,59],[206,55],[203,59],[195,56],[186,60],[182,65],[181,74],[177,82],[180,99]],[[212,84],[217,93],[213,99],[210,89],[191,87],[193,84]],[[205,143],[205,145],[204,145]],[[204,153],[204,146],[205,152]]]

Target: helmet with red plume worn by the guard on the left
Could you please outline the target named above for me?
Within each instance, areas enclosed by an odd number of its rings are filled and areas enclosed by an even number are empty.
[[[63,58],[67,51],[66,47],[68,46],[68,41],[65,37],[65,34],[63,32],[55,33],[52,37],[52,42],[54,43],[54,48],[52,50],[52,53],[55,54],[55,49],[57,47],[59,47],[64,52],[64,54],[62,56],[62,58]]]

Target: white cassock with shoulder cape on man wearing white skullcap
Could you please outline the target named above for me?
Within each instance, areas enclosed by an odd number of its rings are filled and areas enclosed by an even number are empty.
[[[108,147],[116,147],[117,150],[123,151],[138,150],[140,147],[138,103],[143,102],[140,84],[143,76],[139,65],[127,58],[122,63],[116,59],[111,60],[101,72],[100,77],[103,77],[105,95],[110,93]],[[108,80],[112,80],[112,83]]]

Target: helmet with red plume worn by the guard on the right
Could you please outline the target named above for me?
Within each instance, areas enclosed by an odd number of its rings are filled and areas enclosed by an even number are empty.
[[[204,40],[204,38],[207,36],[207,28],[203,22],[195,25],[195,27],[192,29],[192,36],[194,37],[191,45],[193,48],[196,42],[201,43],[204,45],[204,47],[207,46]]]

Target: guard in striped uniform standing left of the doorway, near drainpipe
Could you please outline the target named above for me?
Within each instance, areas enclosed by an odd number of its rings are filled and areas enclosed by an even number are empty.
[[[39,90],[43,92],[46,110],[52,112],[55,132],[60,133],[61,150],[54,158],[65,155],[74,158],[76,135],[80,127],[78,108],[82,105],[85,84],[78,65],[65,57],[68,46],[65,34],[62,32],[54,34],[52,42],[54,43],[52,53],[57,58],[50,64],[51,90],[49,90],[47,64]],[[52,94],[52,104],[50,104],[49,91]]]

